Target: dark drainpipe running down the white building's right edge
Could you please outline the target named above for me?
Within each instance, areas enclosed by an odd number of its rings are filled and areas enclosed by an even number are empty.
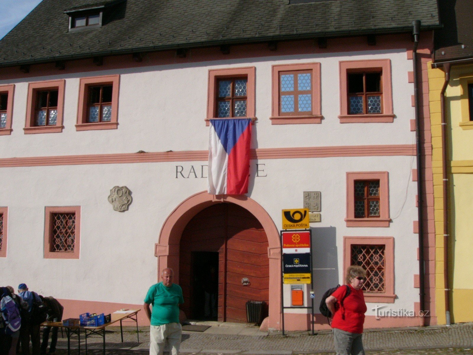
[[[414,45],[412,47],[412,65],[414,69],[414,102],[415,102],[415,122],[416,122],[416,158],[417,158],[417,199],[418,199],[418,220],[419,220],[419,303],[420,311],[424,312],[424,239],[423,239],[423,213],[422,213],[422,161],[421,161],[421,145],[420,145],[420,115],[419,115],[419,90],[417,85],[417,46],[419,45],[420,21],[412,21],[412,35],[414,37]],[[422,317],[423,325],[425,318]]]

